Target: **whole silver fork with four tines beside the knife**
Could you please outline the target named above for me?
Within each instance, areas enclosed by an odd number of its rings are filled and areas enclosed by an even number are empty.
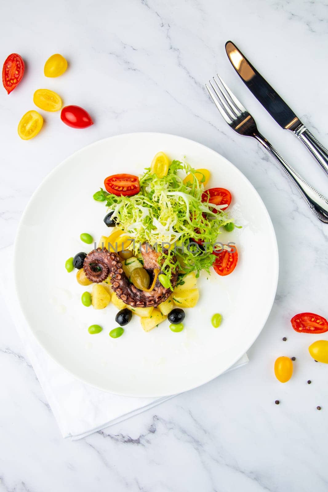
[[[290,180],[295,184],[296,188],[304,198],[307,205],[310,207],[314,215],[328,224],[328,200],[323,195],[318,193],[310,184],[308,184],[293,167],[285,161],[285,159],[278,154],[278,152],[272,147],[270,142],[261,135],[254,118],[244,108],[236,96],[230,91],[227,85],[224,83],[219,74],[217,74],[222,86],[215,77],[213,77],[214,85],[209,81],[214,93],[205,84],[210,96],[212,97],[216,107],[220,111],[223,118],[231,126],[231,128],[246,137],[255,138],[272,157],[283,168]]]

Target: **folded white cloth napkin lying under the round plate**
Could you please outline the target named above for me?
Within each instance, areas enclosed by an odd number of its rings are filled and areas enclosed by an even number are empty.
[[[19,307],[13,279],[13,246],[0,250],[0,289],[63,437],[80,439],[172,398],[130,398],[100,391],[58,366],[33,337]],[[245,354],[229,370],[248,362]]]

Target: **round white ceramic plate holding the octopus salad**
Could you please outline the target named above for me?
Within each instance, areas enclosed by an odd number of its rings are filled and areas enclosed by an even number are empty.
[[[224,232],[220,241],[235,242],[238,265],[227,277],[203,275],[200,299],[186,310],[185,329],[172,333],[168,321],[144,333],[137,316],[121,338],[109,331],[117,326],[117,309],[95,310],[81,304],[89,289],[67,274],[65,261],[92,247],[79,236],[88,232],[99,240],[109,234],[103,223],[106,208],[93,193],[106,176],[117,172],[141,174],[153,156],[165,152],[207,168],[207,187],[232,193],[230,214],[242,229]],[[273,304],[278,279],[278,250],[274,229],[255,188],[227,159],[174,135],[132,133],[101,140],[68,157],[33,194],[21,219],[15,243],[15,283],[25,318],[34,336],[61,366],[102,390],[135,397],[160,397],[195,388],[229,369],[261,332]],[[90,290],[90,289],[89,289]],[[218,329],[211,316],[220,312]],[[89,335],[88,326],[103,331]]]

